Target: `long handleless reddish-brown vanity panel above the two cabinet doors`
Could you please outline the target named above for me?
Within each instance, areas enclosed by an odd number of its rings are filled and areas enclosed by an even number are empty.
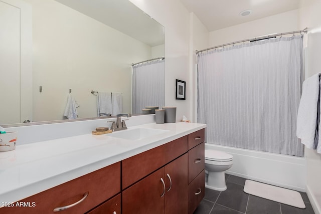
[[[122,188],[145,177],[188,151],[188,137],[184,136],[164,145],[142,152],[122,161]]]

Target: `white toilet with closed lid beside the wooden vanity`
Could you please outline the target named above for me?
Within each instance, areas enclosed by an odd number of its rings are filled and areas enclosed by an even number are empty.
[[[226,190],[224,172],[231,168],[233,156],[213,149],[205,149],[205,187],[218,191]]]

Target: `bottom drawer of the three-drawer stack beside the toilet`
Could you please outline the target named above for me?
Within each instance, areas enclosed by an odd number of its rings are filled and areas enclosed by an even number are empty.
[[[189,184],[189,214],[193,214],[205,195],[205,171]]]

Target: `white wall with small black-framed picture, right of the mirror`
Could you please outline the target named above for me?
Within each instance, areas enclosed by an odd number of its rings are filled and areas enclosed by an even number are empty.
[[[179,0],[130,0],[165,27],[165,105],[176,106],[176,120],[190,117],[189,12]],[[176,79],[186,81],[186,100],[176,100]]]

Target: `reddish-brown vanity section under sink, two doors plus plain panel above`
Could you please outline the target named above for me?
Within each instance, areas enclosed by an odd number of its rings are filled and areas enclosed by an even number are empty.
[[[187,213],[187,151],[184,136],[123,160],[122,213]]]

